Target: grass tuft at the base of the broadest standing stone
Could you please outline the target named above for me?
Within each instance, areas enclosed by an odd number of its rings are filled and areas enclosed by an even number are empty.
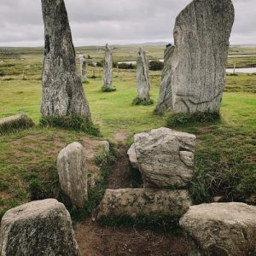
[[[220,113],[175,113],[167,120],[169,128],[187,125],[209,125],[221,122]]]

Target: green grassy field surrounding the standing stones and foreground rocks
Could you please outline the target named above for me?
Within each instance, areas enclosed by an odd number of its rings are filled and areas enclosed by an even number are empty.
[[[3,50],[3,49],[2,49]],[[19,49],[15,66],[0,63],[0,117],[26,113],[37,124],[40,119],[41,49]],[[149,49],[148,49],[149,50]],[[117,51],[116,51],[117,52]],[[1,54],[0,54],[1,55]],[[2,51],[3,55],[3,51]],[[129,59],[130,55],[121,58]],[[152,56],[159,55],[158,50]],[[9,51],[0,58],[14,58]],[[26,56],[21,60],[20,56]],[[89,76],[93,67],[89,68]],[[25,71],[25,77],[23,76]],[[153,106],[133,106],[137,96],[136,71],[113,73],[116,91],[103,93],[102,69],[95,68],[96,79],[84,84],[84,90],[96,125],[102,137],[115,142],[115,134],[128,135],[166,126],[172,113],[159,117]],[[151,97],[157,101],[160,72],[150,72]],[[195,178],[191,192],[196,203],[211,201],[214,195],[224,195],[228,201],[254,203],[256,194],[256,75],[227,76],[221,114],[223,121],[216,124],[187,124],[173,129],[195,133],[197,137]],[[34,127],[0,137],[0,216],[10,207],[32,200],[35,186],[39,198],[54,196],[58,189],[55,159],[67,143],[80,141],[82,132]]]

